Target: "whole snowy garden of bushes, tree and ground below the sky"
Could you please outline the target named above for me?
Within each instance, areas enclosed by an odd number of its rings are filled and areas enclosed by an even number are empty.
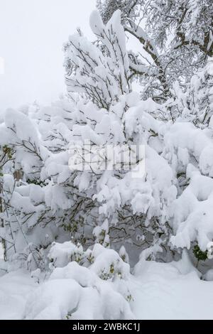
[[[67,94],[0,114],[0,319],[211,319],[212,0],[88,20]]]

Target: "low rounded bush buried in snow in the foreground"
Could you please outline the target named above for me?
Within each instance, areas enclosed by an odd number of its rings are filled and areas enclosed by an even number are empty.
[[[129,264],[96,244],[83,251],[72,242],[53,244],[53,271],[28,297],[26,319],[133,319]]]

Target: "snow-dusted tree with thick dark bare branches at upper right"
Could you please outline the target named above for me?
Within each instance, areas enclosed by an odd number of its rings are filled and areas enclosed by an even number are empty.
[[[145,98],[165,101],[173,82],[188,82],[213,55],[212,0],[97,0],[97,6],[104,22],[119,9],[127,35],[141,43],[129,59]]]

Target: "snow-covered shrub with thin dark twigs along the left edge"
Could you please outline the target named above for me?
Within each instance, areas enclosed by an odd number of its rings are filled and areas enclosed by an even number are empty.
[[[41,170],[49,156],[38,131],[34,109],[7,110],[1,124],[1,145],[7,154],[1,176],[1,239],[5,257],[30,269],[45,269],[45,248],[59,233],[55,219],[45,203]],[[48,225],[48,226],[47,226]],[[20,265],[20,264],[18,264]]]

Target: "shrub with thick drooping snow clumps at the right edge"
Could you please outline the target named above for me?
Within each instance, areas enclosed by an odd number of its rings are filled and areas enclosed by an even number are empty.
[[[198,242],[207,249],[212,241],[212,130],[177,122],[165,135],[163,155],[168,158],[178,182],[178,198],[170,208],[176,247],[190,249]]]

